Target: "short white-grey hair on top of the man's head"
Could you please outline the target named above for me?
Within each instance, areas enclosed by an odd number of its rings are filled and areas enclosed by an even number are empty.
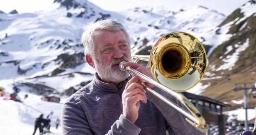
[[[129,34],[127,33],[123,25],[117,22],[116,20],[106,19],[106,20],[99,20],[96,23],[89,25],[87,30],[82,34],[82,44],[85,47],[85,55],[89,54],[89,56],[92,56],[93,58],[95,58],[94,56],[95,45],[94,45],[93,36],[96,34],[97,31],[100,31],[100,30],[106,30],[106,31],[121,30],[125,34],[128,40],[128,44],[129,44],[128,47],[130,49]]]

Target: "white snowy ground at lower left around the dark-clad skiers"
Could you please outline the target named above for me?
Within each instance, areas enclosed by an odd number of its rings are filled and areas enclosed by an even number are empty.
[[[4,100],[5,97],[0,97],[0,106],[5,109],[5,111],[0,111],[1,135],[31,135],[36,118],[40,114],[46,118],[51,111],[53,111],[53,116],[50,131],[54,135],[62,135],[61,125],[58,129],[55,128],[55,120],[60,119],[62,104],[41,101],[41,96],[34,94],[28,94],[27,99],[23,99],[25,94],[27,92],[23,91],[18,94],[23,103]],[[36,134],[39,134],[39,129]]]

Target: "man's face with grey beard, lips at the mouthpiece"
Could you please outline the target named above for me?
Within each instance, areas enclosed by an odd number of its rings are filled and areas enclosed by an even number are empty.
[[[106,83],[119,83],[129,74],[119,70],[119,63],[131,61],[128,40],[119,31],[98,31],[93,37],[95,57],[93,62],[98,76]]]

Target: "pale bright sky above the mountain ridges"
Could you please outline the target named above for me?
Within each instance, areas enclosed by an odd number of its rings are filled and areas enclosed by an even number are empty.
[[[16,9],[18,13],[34,13],[53,7],[54,0],[0,0],[0,10],[9,13]],[[121,11],[134,7],[167,6],[171,9],[180,9],[187,5],[202,5],[217,10],[228,16],[235,9],[249,0],[89,0],[98,7],[109,11]]]

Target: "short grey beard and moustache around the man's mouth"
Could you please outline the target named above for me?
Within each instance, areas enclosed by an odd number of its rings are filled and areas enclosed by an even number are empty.
[[[131,58],[130,58],[131,59]],[[131,61],[125,56],[122,58],[114,59],[109,65],[107,63],[100,63],[97,60],[94,61],[95,70],[98,76],[105,82],[119,83],[130,75],[127,71],[121,71],[118,68],[113,68],[112,65],[119,64],[122,61]]]

